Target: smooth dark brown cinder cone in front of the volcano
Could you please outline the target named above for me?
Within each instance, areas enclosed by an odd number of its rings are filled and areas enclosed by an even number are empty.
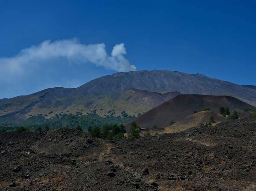
[[[245,107],[254,108],[230,96],[181,94],[132,121],[135,121],[140,127],[147,129],[152,128],[153,125],[161,128],[168,127],[170,121],[182,120],[193,114],[194,110],[201,111],[203,106],[209,107],[211,111],[216,113],[219,112],[219,107],[221,106],[229,107],[231,112],[234,109],[242,111]],[[126,124],[127,129],[130,128],[131,122]]]

